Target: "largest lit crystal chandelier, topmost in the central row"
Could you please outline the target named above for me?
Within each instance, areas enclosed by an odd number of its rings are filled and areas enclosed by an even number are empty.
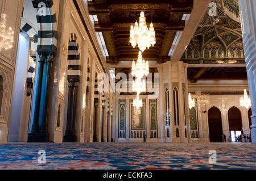
[[[144,52],[146,48],[150,48],[151,45],[154,47],[156,43],[154,26],[152,23],[150,23],[150,27],[147,27],[146,18],[143,11],[141,12],[139,23],[136,21],[135,25],[131,26],[130,43],[133,48],[135,48],[138,44],[138,47],[142,52]]]

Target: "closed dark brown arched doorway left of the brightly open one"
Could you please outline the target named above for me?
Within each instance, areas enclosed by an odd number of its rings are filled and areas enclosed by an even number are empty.
[[[217,107],[209,109],[208,123],[210,142],[222,142],[221,112]]]

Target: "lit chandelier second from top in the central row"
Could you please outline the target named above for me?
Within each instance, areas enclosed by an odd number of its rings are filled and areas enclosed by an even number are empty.
[[[142,79],[144,75],[149,74],[148,61],[145,61],[142,57],[142,52],[139,51],[137,63],[133,61],[133,66],[131,68],[131,75],[137,79]]]

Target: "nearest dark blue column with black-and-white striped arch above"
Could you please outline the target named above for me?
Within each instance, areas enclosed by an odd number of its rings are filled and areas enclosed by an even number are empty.
[[[28,134],[28,142],[49,142],[47,128],[47,99],[49,94],[49,81],[51,76],[53,57],[57,50],[57,19],[54,12],[53,1],[32,1],[34,9],[38,12],[36,20],[38,31],[38,74],[35,87],[35,109],[32,130]],[[22,31],[31,33],[30,26],[22,24]],[[29,35],[30,36],[30,35]]]

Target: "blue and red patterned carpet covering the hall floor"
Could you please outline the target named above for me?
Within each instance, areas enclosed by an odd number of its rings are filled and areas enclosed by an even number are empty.
[[[39,164],[39,150],[46,164]],[[217,163],[209,163],[209,150]],[[0,169],[253,169],[251,144],[0,144]]]

